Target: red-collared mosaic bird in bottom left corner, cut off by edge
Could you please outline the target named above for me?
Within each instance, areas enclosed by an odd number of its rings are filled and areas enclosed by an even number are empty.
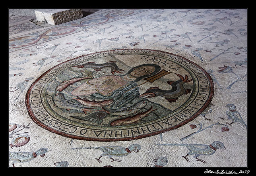
[[[22,151],[9,152],[9,161],[12,162],[13,166],[15,163],[26,163],[26,162],[32,161],[38,155],[40,155],[41,157],[44,157],[47,151],[48,151],[47,148],[41,148],[35,152],[22,152]]]

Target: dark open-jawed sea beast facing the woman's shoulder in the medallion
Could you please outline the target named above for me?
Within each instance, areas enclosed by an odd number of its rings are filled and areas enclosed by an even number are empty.
[[[183,84],[192,81],[192,79],[188,80],[188,76],[182,77],[179,74],[176,74],[180,77],[177,81],[168,81],[167,83],[172,86],[170,90],[161,90],[159,87],[151,87],[146,90],[144,94],[141,94],[140,97],[151,98],[155,96],[161,96],[167,99],[170,103],[175,102],[178,97],[188,94],[191,92],[190,89],[185,89]]]

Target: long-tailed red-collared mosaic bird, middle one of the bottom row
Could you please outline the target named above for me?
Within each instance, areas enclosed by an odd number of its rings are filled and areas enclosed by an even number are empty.
[[[112,157],[124,157],[132,153],[134,151],[137,153],[141,146],[139,144],[132,144],[129,147],[121,147],[121,146],[102,146],[102,147],[80,147],[80,148],[72,148],[72,149],[98,149],[101,150],[103,153],[100,155],[99,158],[95,158],[99,163],[102,163],[100,160],[101,157],[108,156],[113,161],[120,162],[120,159],[113,159]]]

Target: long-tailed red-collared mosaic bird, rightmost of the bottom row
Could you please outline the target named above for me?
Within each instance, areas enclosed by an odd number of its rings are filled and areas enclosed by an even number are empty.
[[[209,145],[206,144],[184,144],[184,143],[167,143],[167,144],[157,144],[157,145],[175,145],[175,146],[184,146],[187,147],[189,152],[186,156],[182,156],[186,161],[190,162],[188,160],[189,155],[194,155],[194,158],[196,161],[201,161],[202,163],[206,164],[206,161],[199,159],[198,157],[200,155],[213,155],[217,149],[226,149],[224,144],[219,141],[215,141]]]

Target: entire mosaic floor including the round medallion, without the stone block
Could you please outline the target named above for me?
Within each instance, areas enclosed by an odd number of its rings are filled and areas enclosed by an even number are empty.
[[[9,9],[10,168],[245,172],[248,9],[83,9],[56,26],[34,10]]]

